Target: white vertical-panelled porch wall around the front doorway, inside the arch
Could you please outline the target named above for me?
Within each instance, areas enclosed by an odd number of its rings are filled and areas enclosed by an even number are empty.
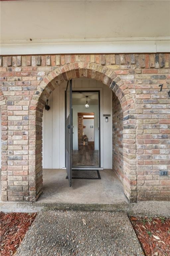
[[[101,167],[112,168],[112,90],[103,83],[89,78],[72,80],[73,90],[100,90]],[[66,82],[50,95],[50,110],[43,110],[42,118],[42,167],[65,167],[65,88]],[[84,112],[84,111],[83,111]],[[110,114],[105,122],[103,114]]]

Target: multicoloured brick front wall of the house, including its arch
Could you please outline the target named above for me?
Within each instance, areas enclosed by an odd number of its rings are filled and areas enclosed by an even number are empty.
[[[110,86],[120,101],[129,200],[169,200],[170,176],[159,176],[170,167],[169,65],[169,54],[0,57],[2,199],[33,201],[42,193],[45,101],[63,81],[84,76]]]

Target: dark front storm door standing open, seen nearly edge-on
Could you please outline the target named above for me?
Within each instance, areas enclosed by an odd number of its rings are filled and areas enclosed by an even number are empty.
[[[72,80],[66,88],[66,120],[65,120],[65,165],[69,186],[72,186]]]

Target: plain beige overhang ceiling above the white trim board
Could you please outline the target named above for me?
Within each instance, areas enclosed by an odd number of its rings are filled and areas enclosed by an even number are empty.
[[[1,40],[170,36],[170,1],[1,1]]]

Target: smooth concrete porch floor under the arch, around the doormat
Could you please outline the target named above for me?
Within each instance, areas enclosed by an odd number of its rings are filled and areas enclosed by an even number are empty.
[[[72,179],[69,187],[66,170],[43,169],[41,203],[115,204],[125,203],[123,185],[113,170],[100,170],[101,180]]]

